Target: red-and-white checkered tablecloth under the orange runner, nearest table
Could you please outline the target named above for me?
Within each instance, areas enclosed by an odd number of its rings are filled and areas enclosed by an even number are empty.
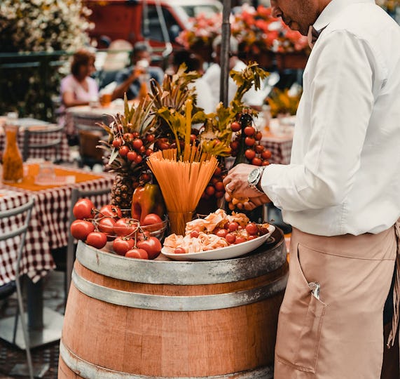
[[[62,167],[65,169],[65,167]],[[76,169],[71,169],[71,175]],[[97,174],[96,174],[97,175]],[[36,282],[55,267],[51,250],[67,246],[69,234],[69,208],[71,191],[74,187],[85,190],[110,188],[113,175],[98,174],[99,178],[70,185],[60,185],[39,191],[28,191],[4,185],[0,189],[0,210],[25,204],[29,197],[34,197],[35,205],[25,241],[21,272]],[[108,195],[94,198],[95,206],[109,203]],[[0,233],[21,225],[23,220],[13,219],[0,222]],[[4,241],[0,245],[0,286],[15,279],[14,262],[18,253],[19,238]]]

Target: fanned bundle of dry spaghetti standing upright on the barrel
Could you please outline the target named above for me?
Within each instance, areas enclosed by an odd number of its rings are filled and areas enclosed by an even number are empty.
[[[192,219],[202,192],[218,165],[216,157],[186,145],[181,157],[177,149],[160,150],[151,154],[147,164],[163,192],[171,232],[184,234],[186,222]]]

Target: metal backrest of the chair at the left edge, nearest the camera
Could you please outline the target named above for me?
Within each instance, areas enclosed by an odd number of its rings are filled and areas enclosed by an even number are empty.
[[[29,221],[31,219],[31,214],[32,214],[32,208],[34,206],[34,198],[32,197],[29,199],[29,201],[26,204],[23,204],[22,206],[17,206],[15,208],[8,209],[6,211],[0,211],[0,220],[5,219],[5,218],[11,218],[8,227],[10,228],[8,232],[0,233],[0,241],[5,241],[6,239],[11,239],[13,237],[20,236],[20,244],[19,244],[19,249],[18,249],[18,258],[16,262],[16,269],[15,269],[15,275],[19,276],[20,274],[20,262],[22,258],[22,249],[24,248],[25,245],[25,239],[27,236],[27,230],[29,227]],[[15,217],[15,220],[18,218],[18,216],[23,217],[25,214],[25,220],[22,225],[18,227],[13,227],[13,217]]]

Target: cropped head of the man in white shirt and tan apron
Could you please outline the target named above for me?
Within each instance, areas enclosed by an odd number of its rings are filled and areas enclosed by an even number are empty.
[[[271,0],[274,17],[281,17],[291,29],[298,30],[304,36],[310,25],[331,0]]]

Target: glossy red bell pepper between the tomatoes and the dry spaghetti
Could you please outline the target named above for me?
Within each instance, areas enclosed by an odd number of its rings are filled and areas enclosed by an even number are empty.
[[[132,218],[140,222],[149,213],[156,213],[163,218],[165,213],[165,204],[160,187],[155,184],[146,183],[137,187],[132,195]]]

